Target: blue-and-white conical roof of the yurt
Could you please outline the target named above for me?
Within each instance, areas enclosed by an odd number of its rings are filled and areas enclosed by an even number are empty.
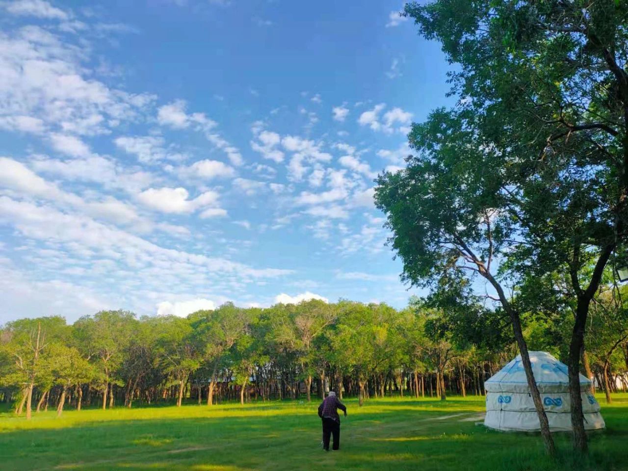
[[[529,352],[534,379],[541,393],[546,391],[568,391],[569,377],[567,365],[558,361],[548,352]],[[580,375],[580,390],[587,391],[591,381]],[[492,393],[529,391],[526,372],[523,369],[521,355],[509,362],[494,376],[484,382],[484,387]]]

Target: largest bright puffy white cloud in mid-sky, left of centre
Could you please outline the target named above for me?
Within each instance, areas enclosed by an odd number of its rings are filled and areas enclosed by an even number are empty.
[[[149,208],[165,213],[190,213],[203,206],[216,206],[219,194],[214,191],[201,193],[193,200],[185,188],[148,188],[139,193],[138,200]]]

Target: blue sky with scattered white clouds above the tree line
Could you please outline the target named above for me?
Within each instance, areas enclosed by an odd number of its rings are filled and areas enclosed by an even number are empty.
[[[406,305],[373,178],[449,68],[395,1],[0,3],[0,322]]]

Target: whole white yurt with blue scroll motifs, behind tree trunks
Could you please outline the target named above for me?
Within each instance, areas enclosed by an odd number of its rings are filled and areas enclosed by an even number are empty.
[[[571,430],[567,366],[548,352],[529,352],[534,379],[541,393],[549,429]],[[590,394],[591,381],[580,375],[580,394],[585,429],[604,428],[600,404]],[[540,430],[539,418],[526,380],[521,355],[484,382],[486,418],[484,425],[495,430]]]

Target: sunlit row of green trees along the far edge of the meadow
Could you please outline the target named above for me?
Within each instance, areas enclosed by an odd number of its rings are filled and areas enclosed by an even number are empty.
[[[585,366],[610,401],[628,370],[622,290],[596,298]],[[619,302],[618,302],[619,301]],[[568,309],[527,313],[531,349],[565,357]],[[270,308],[226,303],[187,318],[100,311],[9,322],[0,330],[0,401],[16,414],[56,407],[114,408],[183,401],[484,394],[484,381],[517,354],[507,317],[480,305],[443,311],[341,300]],[[622,389],[628,384],[621,382]]]

